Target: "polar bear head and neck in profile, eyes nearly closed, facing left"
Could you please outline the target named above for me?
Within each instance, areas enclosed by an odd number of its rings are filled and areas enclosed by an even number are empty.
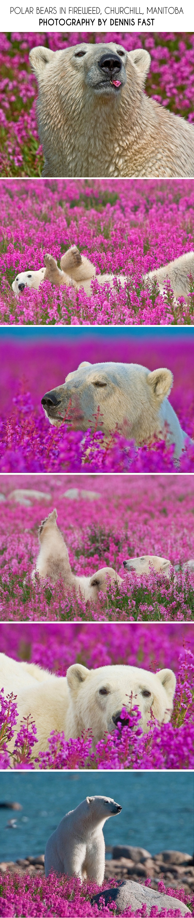
[[[136,446],[166,438],[167,444],[175,444],[178,459],[187,434],[167,400],[172,384],[173,375],[166,368],[150,373],[140,364],[83,361],[65,383],[46,393],[41,404],[55,427],[65,422],[76,431],[87,431],[96,419],[105,437],[117,429]]]

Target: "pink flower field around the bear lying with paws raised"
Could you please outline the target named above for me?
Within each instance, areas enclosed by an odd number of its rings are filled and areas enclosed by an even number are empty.
[[[54,37],[52,36],[52,39]],[[140,37],[141,38],[141,37]],[[129,36],[134,39],[134,36]],[[146,41],[152,40],[147,36]],[[0,322],[3,325],[193,325],[194,293],[174,305],[147,290],[143,274],[194,248],[194,193],[190,180],[29,180],[1,182]],[[44,254],[58,261],[70,245],[115,274],[115,286],[93,281],[82,290],[26,288],[16,299],[18,272],[38,270]],[[126,274],[122,288],[118,274]]]

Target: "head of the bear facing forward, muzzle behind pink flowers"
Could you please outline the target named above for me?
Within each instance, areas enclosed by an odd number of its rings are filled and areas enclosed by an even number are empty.
[[[87,669],[81,664],[67,671],[70,689],[69,729],[80,736],[91,729],[94,746],[105,732],[113,733],[122,708],[138,705],[141,727],[147,733],[151,709],[156,720],[167,723],[173,707],[176,677],[171,669],[150,673],[137,666],[100,666]]]

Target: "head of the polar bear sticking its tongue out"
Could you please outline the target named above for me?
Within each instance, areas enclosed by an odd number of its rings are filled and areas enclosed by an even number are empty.
[[[142,48],[126,51],[113,41],[81,42],[57,51],[39,45],[30,51],[29,61],[40,94],[50,99],[54,87],[56,116],[59,102],[65,118],[65,113],[81,108],[84,100],[89,106],[94,100],[100,105],[111,101],[113,106],[114,101],[120,101],[126,84],[129,101],[135,103],[135,89],[138,92],[145,84],[150,55]]]

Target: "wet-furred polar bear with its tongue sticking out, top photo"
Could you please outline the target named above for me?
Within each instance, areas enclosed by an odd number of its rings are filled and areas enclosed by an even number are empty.
[[[30,51],[43,175],[194,176],[194,128],[145,95],[150,60],[113,41]]]

